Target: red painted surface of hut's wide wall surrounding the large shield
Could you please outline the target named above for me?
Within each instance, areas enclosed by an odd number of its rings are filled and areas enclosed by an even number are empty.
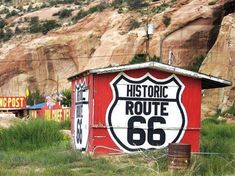
[[[132,70],[125,72],[125,74],[131,78],[141,78],[147,73],[151,74],[153,77],[155,77],[158,80],[163,80],[172,76],[172,74],[170,73],[160,72],[151,69]],[[117,142],[114,142],[114,137],[110,133],[109,130],[110,127],[108,126],[107,122],[108,111],[112,109],[110,108],[110,106],[114,102],[113,92],[110,83],[112,82],[112,80],[116,79],[115,77],[118,74],[119,73],[109,73],[109,74],[97,74],[94,76],[94,121],[92,122],[93,149],[90,148],[90,151],[94,151],[95,153],[116,153],[117,151],[129,152],[127,150],[122,150],[122,148],[119,145],[117,145]],[[183,109],[185,109],[187,117],[186,119],[187,125],[183,129],[185,130],[185,133],[183,136],[180,137],[180,141],[178,142],[191,144],[192,151],[196,152],[199,150],[199,136],[200,136],[201,81],[185,76],[176,75],[176,77],[185,86],[180,101],[182,101],[182,104],[184,106]],[[117,106],[119,106],[118,103],[116,104],[115,108]],[[168,110],[170,111],[169,108]],[[122,111],[122,109],[120,109],[120,111]],[[117,114],[119,112],[115,111],[115,113]],[[174,121],[173,116],[169,118],[172,118],[172,121]],[[147,124],[148,120],[149,119],[147,119],[146,122],[144,123]],[[120,115],[120,121],[122,121],[121,115]],[[159,122],[156,123],[156,125],[157,124],[159,124]],[[115,126],[115,124],[113,124],[113,126]],[[124,125],[116,128],[126,128],[126,126]],[[153,133],[158,133],[154,131],[155,128],[157,128],[157,126],[154,126],[153,129],[151,129],[150,131]],[[140,130],[143,131],[143,129]],[[169,128],[167,129],[166,127],[164,130],[168,130],[167,132],[169,132],[172,129]],[[148,136],[147,134],[148,129],[144,129],[143,132],[146,133],[146,136]],[[148,137],[146,137],[146,140],[148,140]]]

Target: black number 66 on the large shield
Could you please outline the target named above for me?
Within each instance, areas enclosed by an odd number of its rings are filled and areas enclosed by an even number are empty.
[[[128,120],[128,129],[127,129],[127,141],[130,145],[140,146],[143,145],[146,141],[146,133],[147,133],[147,141],[150,145],[153,146],[161,146],[165,143],[166,134],[163,129],[156,128],[154,129],[154,123],[166,124],[166,121],[161,116],[153,116],[148,120],[148,129],[145,133],[145,130],[142,128],[134,128],[134,123],[139,122],[142,124],[146,124],[146,119],[142,116],[132,116]],[[139,135],[138,139],[134,139],[134,134]],[[154,135],[159,135],[160,138],[158,140],[154,139]]]

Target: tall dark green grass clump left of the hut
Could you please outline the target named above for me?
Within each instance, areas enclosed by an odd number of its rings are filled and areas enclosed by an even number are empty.
[[[16,123],[0,131],[0,150],[34,150],[63,139],[59,124],[40,119]]]

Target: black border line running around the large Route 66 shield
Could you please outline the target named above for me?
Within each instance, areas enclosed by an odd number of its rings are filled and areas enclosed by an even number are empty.
[[[112,106],[111,106],[111,108],[110,108],[110,110],[109,110],[109,112],[108,112],[108,123],[109,123],[109,126],[110,126],[110,131],[111,131],[113,137],[115,138],[115,140],[119,143],[119,145],[121,145],[124,149],[126,149],[127,151],[130,151],[130,152],[134,152],[134,151],[138,151],[138,150],[146,150],[146,149],[143,149],[143,148],[130,149],[129,147],[125,146],[125,145],[119,140],[119,138],[116,136],[116,134],[115,134],[115,132],[114,132],[114,130],[113,130],[113,126],[112,126],[112,123],[111,123],[111,114],[112,114],[113,109],[114,109],[114,107],[116,106],[118,100],[120,99],[119,94],[118,94],[118,90],[117,90],[117,83],[118,83],[120,80],[122,80],[122,79],[126,80],[126,81],[129,82],[129,83],[135,83],[135,84],[136,84],[136,83],[143,83],[143,82],[145,82],[146,80],[150,80],[150,81],[152,81],[153,83],[155,83],[155,84],[160,84],[160,85],[161,85],[161,84],[167,84],[167,83],[169,83],[169,82],[174,81],[174,82],[179,86],[179,89],[177,90],[177,95],[176,95],[176,102],[177,102],[177,105],[178,105],[178,107],[179,107],[179,109],[180,109],[180,113],[181,113],[181,117],[182,117],[182,125],[181,125],[181,127],[180,127],[179,132],[178,132],[178,135],[177,135],[176,138],[172,141],[172,143],[175,143],[175,142],[179,139],[179,137],[180,137],[180,135],[181,135],[181,133],[182,133],[182,131],[183,131],[184,125],[185,125],[185,114],[184,114],[184,111],[183,111],[183,109],[182,109],[182,107],[181,107],[181,105],[180,105],[180,102],[179,102],[179,94],[180,94],[180,91],[181,91],[181,89],[182,89],[182,86],[180,85],[180,83],[175,79],[175,77],[172,77],[171,79],[169,79],[169,80],[167,80],[167,81],[163,81],[163,82],[155,81],[155,80],[153,80],[150,76],[146,76],[144,79],[142,79],[142,80],[140,80],[140,81],[133,81],[133,80],[128,79],[127,77],[125,77],[125,76],[122,74],[122,75],[113,83],[113,85],[112,85],[112,86],[114,87],[114,90],[115,90],[115,93],[116,93],[116,99],[115,99],[114,103],[112,104]],[[175,100],[174,100],[174,102],[175,102]],[[149,148],[149,149],[147,149],[147,150],[152,150],[152,149],[155,149],[155,148]]]

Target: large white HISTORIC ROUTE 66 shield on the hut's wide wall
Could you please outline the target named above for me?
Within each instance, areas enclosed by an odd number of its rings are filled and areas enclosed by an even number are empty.
[[[181,102],[184,84],[175,75],[157,79],[147,73],[120,73],[111,82],[113,99],[106,112],[109,134],[125,152],[160,149],[179,142],[187,126]]]

